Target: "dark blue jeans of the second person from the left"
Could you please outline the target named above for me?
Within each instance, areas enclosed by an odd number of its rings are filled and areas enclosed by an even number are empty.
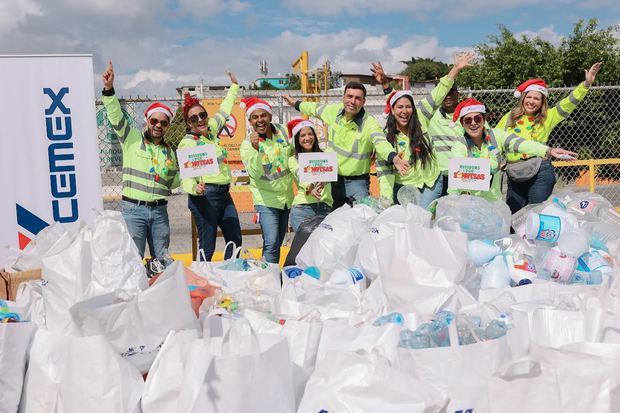
[[[187,206],[198,229],[198,246],[204,251],[207,261],[211,261],[215,252],[218,226],[222,229],[226,243],[232,241],[236,246],[241,246],[239,215],[228,190],[229,185],[206,184],[203,195],[187,196]],[[233,248],[229,245],[224,251],[224,259],[230,258],[232,254]]]

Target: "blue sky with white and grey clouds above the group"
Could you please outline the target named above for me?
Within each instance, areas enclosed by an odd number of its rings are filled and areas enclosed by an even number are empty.
[[[121,94],[173,96],[201,78],[227,83],[226,69],[247,85],[260,59],[286,73],[304,49],[313,66],[366,73],[380,60],[396,72],[412,56],[450,61],[498,24],[559,43],[591,17],[620,24],[618,1],[0,0],[0,50],[92,53],[96,73],[114,61]]]

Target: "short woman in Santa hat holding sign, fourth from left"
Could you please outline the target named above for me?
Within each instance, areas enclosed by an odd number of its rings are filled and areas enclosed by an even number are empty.
[[[314,124],[309,120],[296,118],[288,123],[289,138],[293,142],[293,155],[288,158],[288,166],[295,177],[297,195],[293,199],[290,223],[293,231],[301,223],[315,215],[327,215],[332,209],[334,200],[329,182],[300,182],[298,156],[302,152],[322,152],[319,140],[314,130]]]

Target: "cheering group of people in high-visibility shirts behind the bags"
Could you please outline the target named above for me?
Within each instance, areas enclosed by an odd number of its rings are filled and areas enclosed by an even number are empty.
[[[350,200],[368,196],[373,159],[380,194],[394,203],[398,203],[398,191],[405,185],[419,189],[424,208],[447,193],[462,193],[448,189],[452,157],[489,159],[490,187],[469,191],[472,195],[500,200],[501,172],[505,169],[507,203],[513,213],[528,203],[546,200],[555,184],[550,158],[574,160],[577,155],[547,146],[549,135],[585,98],[601,63],[586,70],[584,82],[553,107],[549,107],[544,80],[525,81],[515,91],[519,100],[514,109],[491,128],[485,105],[472,98],[460,101],[455,84],[459,72],[471,66],[473,59],[473,53],[458,54],[450,72],[418,103],[410,91],[392,90],[381,64],[373,63],[371,71],[387,95],[384,128],[364,110],[366,88],[358,82],[345,85],[341,103],[294,101],[283,95],[301,114],[327,125],[324,150],[335,152],[338,160],[338,180],[331,183],[306,183],[298,177],[299,154],[322,150],[312,121],[296,118],[285,127],[273,122],[272,108],[266,101],[256,97],[241,99],[251,132],[240,152],[263,234],[264,259],[279,261],[289,220],[296,231],[309,217],[327,214]],[[204,259],[213,256],[218,227],[227,243],[241,245],[239,217],[230,195],[227,151],[218,138],[239,93],[236,77],[230,72],[228,75],[231,87],[213,116],[200,100],[185,96],[187,133],[179,149],[213,145],[219,166],[217,174],[185,179],[180,179],[175,153],[163,140],[173,111],[154,103],[144,113],[144,130],[131,128],[114,92],[111,62],[102,75],[103,103],[123,148],[122,213],[139,251],[144,254],[148,243],[151,255],[164,266],[169,260],[170,240],[167,197],[179,185],[188,194]],[[232,254],[229,247],[225,258]]]

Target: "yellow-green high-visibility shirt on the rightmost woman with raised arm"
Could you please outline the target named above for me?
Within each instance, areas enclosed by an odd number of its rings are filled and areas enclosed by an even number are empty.
[[[514,127],[509,128],[507,126],[510,112],[506,113],[497,124],[497,128],[503,129],[506,132],[514,133],[515,135],[540,143],[547,143],[549,141],[549,135],[553,131],[558,123],[566,119],[588,94],[588,88],[582,82],[579,86],[574,88],[570,94],[564,99],[560,100],[555,106],[549,108],[547,111],[547,117],[542,124],[534,125],[534,118],[531,116],[523,115],[517,120],[517,124]],[[518,153],[506,154],[508,162],[517,162],[521,159],[526,159],[528,155]]]

